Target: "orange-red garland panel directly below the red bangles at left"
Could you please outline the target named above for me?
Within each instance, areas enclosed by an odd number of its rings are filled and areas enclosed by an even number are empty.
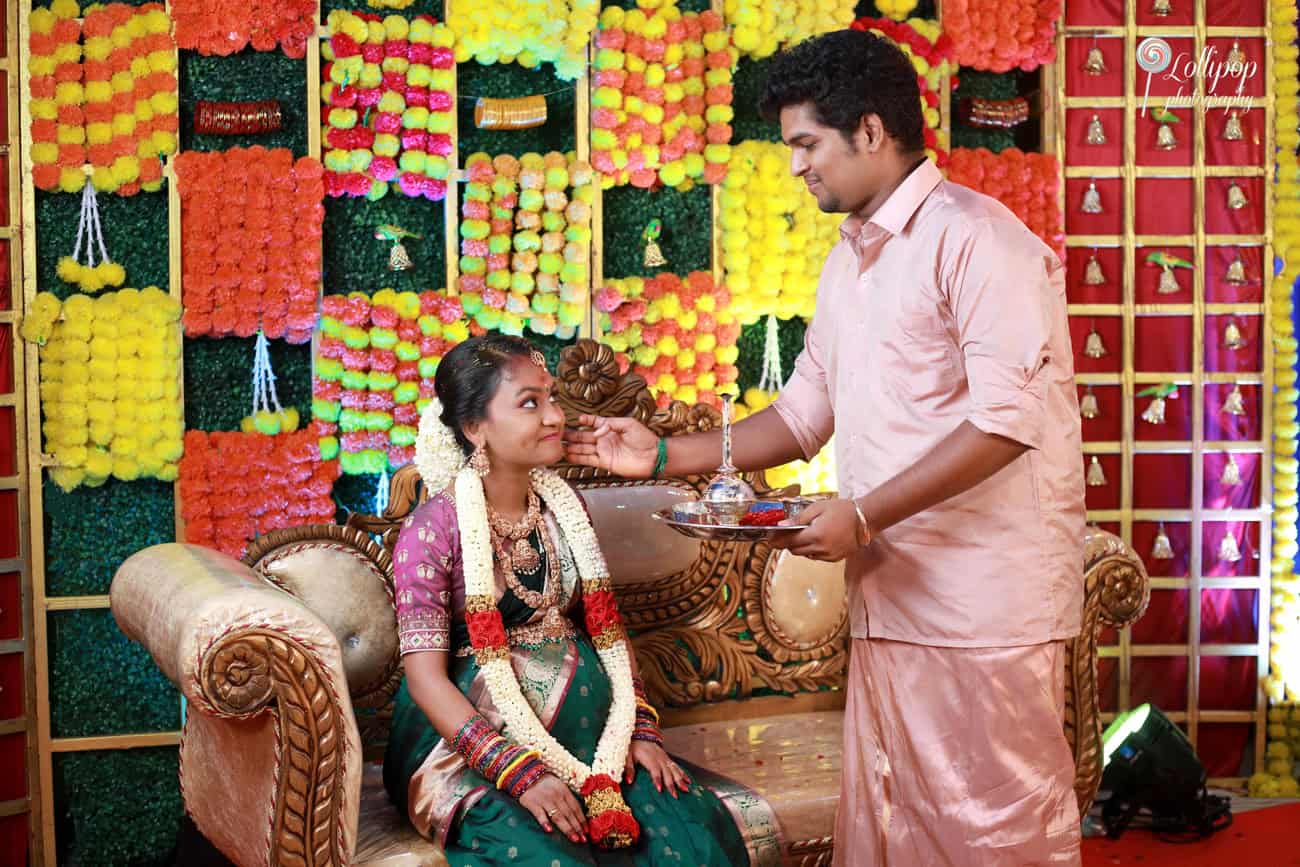
[[[187,151],[181,194],[185,333],[307,343],[316,326],[325,187],[287,148]]]

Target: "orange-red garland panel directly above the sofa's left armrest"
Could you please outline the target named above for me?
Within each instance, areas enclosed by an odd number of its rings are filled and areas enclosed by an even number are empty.
[[[243,556],[270,530],[334,521],[338,461],[322,460],[315,429],[185,434],[181,516],[185,541]]]

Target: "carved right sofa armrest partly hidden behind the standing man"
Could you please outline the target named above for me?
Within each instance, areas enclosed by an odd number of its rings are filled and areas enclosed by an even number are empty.
[[[1074,750],[1074,792],[1086,814],[1101,785],[1101,707],[1097,641],[1101,628],[1136,621],[1150,601],[1150,580],[1138,554],[1118,537],[1088,528],[1084,537],[1083,629],[1066,643],[1065,731]]]

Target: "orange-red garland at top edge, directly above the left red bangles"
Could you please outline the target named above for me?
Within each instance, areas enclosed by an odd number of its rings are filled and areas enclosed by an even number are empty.
[[[252,45],[304,57],[316,31],[316,0],[172,0],[181,48],[225,57]]]

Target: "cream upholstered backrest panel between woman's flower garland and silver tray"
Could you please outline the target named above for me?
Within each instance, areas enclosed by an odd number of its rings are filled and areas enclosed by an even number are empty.
[[[699,556],[699,542],[651,517],[675,503],[696,499],[684,485],[584,487],[595,536],[615,585],[644,584],[685,572]]]

